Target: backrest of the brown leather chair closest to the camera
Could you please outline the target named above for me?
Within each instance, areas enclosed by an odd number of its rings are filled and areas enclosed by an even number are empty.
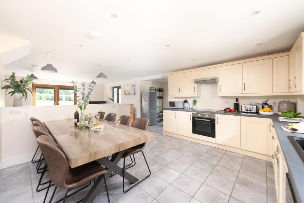
[[[37,143],[43,153],[43,158],[47,162],[52,182],[57,187],[67,189],[65,179],[70,167],[64,153],[57,147],[56,142],[47,135],[38,137]]]

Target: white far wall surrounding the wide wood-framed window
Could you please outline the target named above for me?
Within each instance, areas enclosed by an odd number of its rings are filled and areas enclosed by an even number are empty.
[[[9,75],[5,75],[5,79],[8,79]],[[16,77],[16,80],[20,80],[21,77]],[[72,86],[71,82],[68,81],[58,81],[58,80],[45,80],[45,79],[35,79],[33,81],[35,84],[45,84],[45,85],[67,85]],[[8,82],[4,82],[8,84]],[[77,86],[81,86],[80,83]],[[29,85],[32,87],[32,84]],[[11,91],[10,89],[7,91]],[[33,96],[28,92],[28,98],[25,100],[25,97],[22,99],[22,106],[28,107],[32,106]],[[103,100],[103,85],[97,84],[95,90],[92,93],[91,100]],[[5,95],[5,107],[12,107],[14,102],[14,96]]]

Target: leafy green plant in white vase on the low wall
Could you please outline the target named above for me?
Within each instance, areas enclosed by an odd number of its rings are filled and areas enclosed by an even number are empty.
[[[22,98],[25,97],[25,100],[27,99],[27,91],[33,94],[32,88],[29,87],[29,84],[33,83],[33,78],[31,78],[31,76],[29,75],[26,75],[26,77],[22,77],[19,81],[17,81],[15,72],[12,72],[12,74],[9,76],[9,79],[5,79],[4,81],[9,82],[9,85],[5,85],[2,87],[2,89],[5,89],[5,93],[8,89],[12,89],[12,91],[6,93],[5,95],[14,95],[13,107],[22,106]]]

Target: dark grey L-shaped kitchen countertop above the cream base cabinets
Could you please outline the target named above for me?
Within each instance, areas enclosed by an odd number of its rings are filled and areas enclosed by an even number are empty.
[[[288,125],[288,122],[278,121],[277,117],[280,117],[280,115],[274,114],[272,116],[265,116],[265,115],[261,115],[259,113],[257,113],[256,115],[247,115],[247,114],[242,114],[242,112],[224,113],[224,112],[195,111],[193,109],[173,109],[173,108],[164,108],[164,110],[271,118],[275,131],[278,136],[278,140],[281,145],[282,152],[280,152],[280,153],[283,153],[283,155],[285,157],[285,161],[286,161],[286,164],[288,167],[288,174],[290,177],[290,182],[292,185],[292,189],[293,189],[296,201],[304,202],[304,162],[287,137],[287,136],[291,135],[291,136],[304,138],[304,134],[283,131],[280,126]],[[301,117],[301,118],[304,118],[304,117]]]

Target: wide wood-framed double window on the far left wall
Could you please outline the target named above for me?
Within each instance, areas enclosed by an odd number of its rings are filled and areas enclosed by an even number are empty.
[[[74,105],[73,86],[33,84],[33,106]]]

